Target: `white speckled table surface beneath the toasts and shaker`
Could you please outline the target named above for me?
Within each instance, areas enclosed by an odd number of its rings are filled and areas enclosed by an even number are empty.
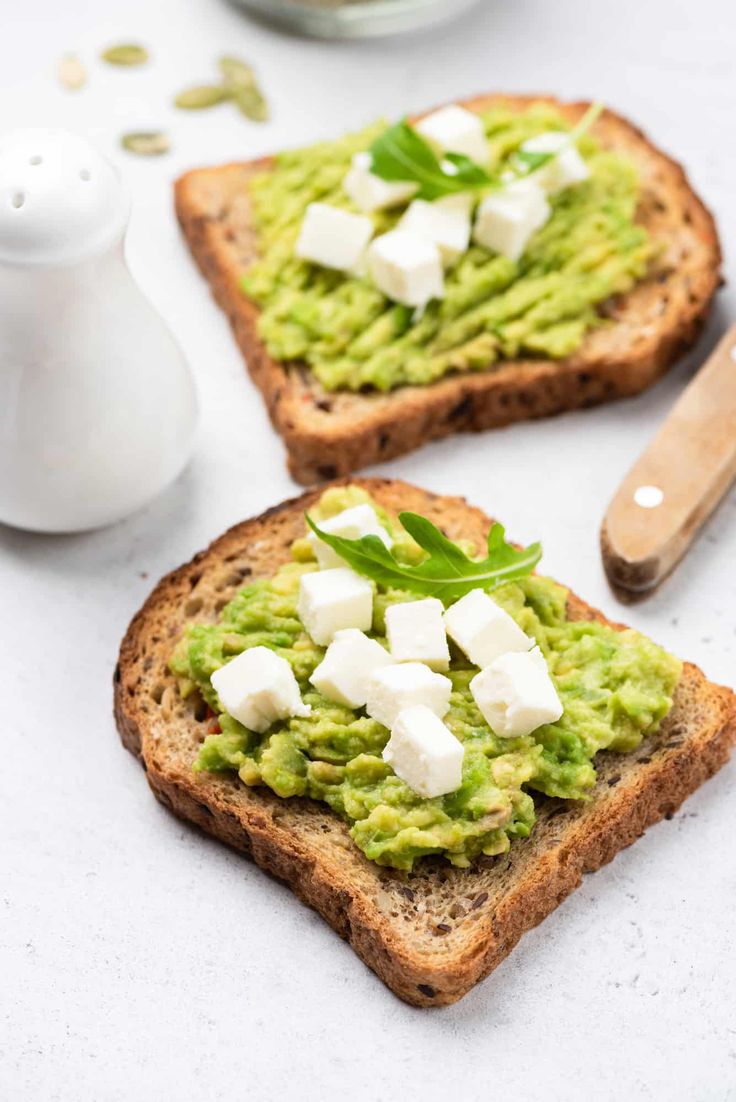
[[[1,25],[0,129],[65,125],[111,152],[134,193],[131,264],[188,353],[203,415],[188,471],[127,522],[67,538],[0,527],[0,1096],[736,1099],[733,765],[462,1003],[416,1011],[285,888],[161,808],[110,711],[117,646],[152,583],[296,490],[177,233],[176,174],[380,112],[550,89],[602,97],[673,150],[728,247],[729,0],[487,0],[440,31],[349,45],[290,39],[220,0],[6,0]],[[95,63],[130,39],[153,64]],[[74,96],[53,77],[66,50],[90,63]],[[268,126],[169,106],[226,50],[257,64]],[[160,125],[170,156],[117,151],[121,130]],[[701,355],[735,312],[726,289]],[[541,536],[550,573],[734,684],[736,496],[638,607],[617,605],[598,557],[605,505],[694,363],[634,401],[450,440],[380,473]]]

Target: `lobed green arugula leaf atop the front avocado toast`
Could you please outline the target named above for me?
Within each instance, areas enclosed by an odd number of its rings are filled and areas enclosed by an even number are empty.
[[[322,531],[306,515],[306,522],[321,540],[337,552],[358,574],[392,588],[410,590],[439,597],[445,604],[470,590],[495,590],[506,582],[530,574],[542,557],[540,543],[517,549],[506,541],[502,525],[488,532],[486,559],[468,559],[440,529],[415,512],[399,516],[402,527],[427,558],[416,564],[399,562],[378,536],[347,540]]]

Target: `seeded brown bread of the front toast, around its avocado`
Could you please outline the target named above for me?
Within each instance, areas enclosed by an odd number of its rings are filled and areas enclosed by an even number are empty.
[[[424,514],[452,539],[483,545],[490,521],[462,498],[400,482],[356,482],[390,511]],[[118,728],[166,807],[285,880],[401,998],[453,1003],[577,887],[583,873],[671,814],[726,761],[736,741],[736,698],[686,665],[661,730],[630,754],[598,755],[589,802],[540,798],[530,838],[469,869],[435,858],[410,875],[381,868],[325,804],[247,788],[235,774],[193,773],[207,709],[180,698],[166,665],[187,622],[215,620],[245,583],[289,560],[292,541],[304,532],[304,510],[320,493],[237,525],[159,583],[120,649]],[[569,611],[603,619],[574,596]]]

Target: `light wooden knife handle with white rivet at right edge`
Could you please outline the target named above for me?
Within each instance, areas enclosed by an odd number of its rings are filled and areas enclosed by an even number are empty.
[[[736,477],[736,325],[682,392],[600,527],[617,588],[642,593],[680,561]]]

